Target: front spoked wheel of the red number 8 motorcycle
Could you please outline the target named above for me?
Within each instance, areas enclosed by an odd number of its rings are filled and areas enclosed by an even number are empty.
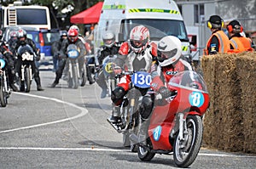
[[[202,121],[199,115],[188,115],[187,133],[183,133],[184,140],[175,138],[173,159],[177,166],[188,167],[191,165],[201,148]]]

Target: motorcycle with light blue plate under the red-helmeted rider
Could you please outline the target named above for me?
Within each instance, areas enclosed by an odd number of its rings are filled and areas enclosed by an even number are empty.
[[[83,67],[79,67],[79,57],[84,57],[79,54],[78,47],[75,44],[69,44],[67,46],[67,66],[68,76],[67,85],[68,87],[78,88],[79,86],[84,87],[86,83],[86,63]],[[84,59],[86,62],[86,59]]]

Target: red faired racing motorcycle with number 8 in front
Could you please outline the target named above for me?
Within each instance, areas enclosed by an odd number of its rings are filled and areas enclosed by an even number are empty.
[[[167,84],[171,97],[154,93],[154,109],[148,127],[147,145],[138,144],[137,154],[150,161],[155,154],[171,154],[177,166],[191,165],[201,148],[202,117],[209,107],[203,78],[195,71],[177,73]]]

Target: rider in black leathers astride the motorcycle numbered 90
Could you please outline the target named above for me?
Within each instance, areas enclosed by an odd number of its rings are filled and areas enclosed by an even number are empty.
[[[23,29],[20,29],[17,31],[17,37],[18,40],[14,44],[15,52],[18,50],[20,46],[28,44],[33,49],[33,52],[37,55],[34,59],[32,70],[34,72],[34,80],[37,83],[37,89],[38,91],[44,91],[43,87],[41,86],[41,80],[39,76],[39,68],[37,62],[40,60],[40,50],[36,47],[35,42],[32,41],[32,39],[26,37],[26,31]],[[20,70],[21,62],[20,60],[17,60],[16,63],[16,70]],[[24,88],[20,88],[20,91],[23,91]]]

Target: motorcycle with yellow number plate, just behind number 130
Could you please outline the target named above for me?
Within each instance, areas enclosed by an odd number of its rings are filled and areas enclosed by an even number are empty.
[[[108,55],[106,58],[102,60],[102,70],[104,72],[105,79],[108,84],[108,96],[111,96],[111,92],[117,86],[119,82],[119,74],[121,73],[121,67],[114,64],[114,59],[116,59],[116,55]]]

